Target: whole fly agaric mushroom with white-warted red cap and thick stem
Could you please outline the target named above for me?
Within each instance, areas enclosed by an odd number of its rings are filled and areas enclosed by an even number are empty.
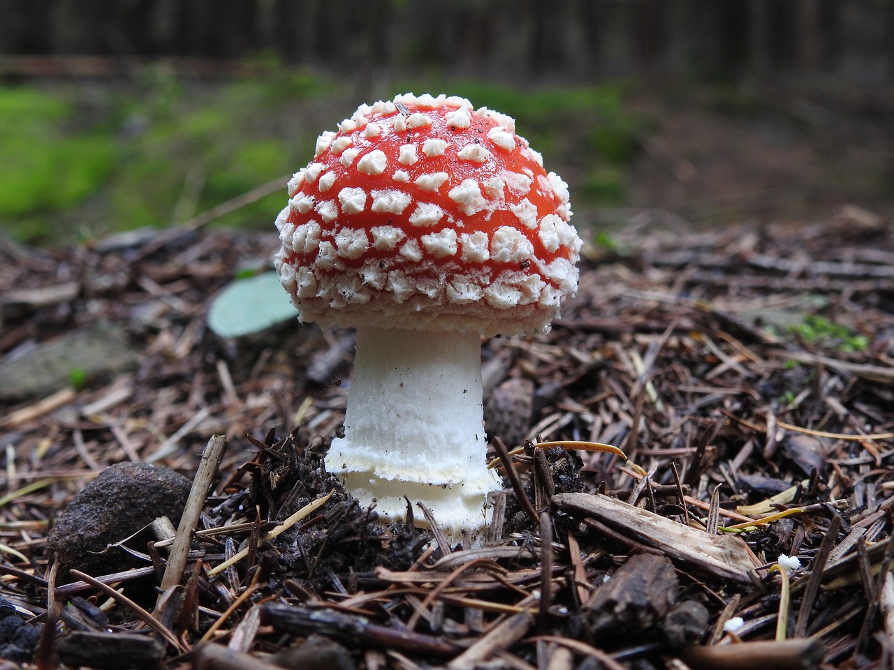
[[[548,331],[578,286],[568,187],[468,100],[361,105],[289,182],[275,257],[300,319],[358,329],[344,437],[325,457],[387,521],[421,501],[485,528],[481,335]]]

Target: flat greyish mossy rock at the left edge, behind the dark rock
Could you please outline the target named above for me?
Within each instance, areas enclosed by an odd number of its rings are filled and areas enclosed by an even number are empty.
[[[91,381],[131,370],[138,362],[119,326],[91,323],[18,358],[0,361],[0,400],[48,396],[69,386],[73,373]]]

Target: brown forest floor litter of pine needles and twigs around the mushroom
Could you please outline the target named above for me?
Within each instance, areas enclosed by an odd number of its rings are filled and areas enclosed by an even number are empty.
[[[2,380],[0,598],[26,627],[58,618],[38,660],[58,650],[61,667],[146,643],[166,670],[881,667],[894,236],[854,212],[717,230],[640,217],[613,251],[590,248],[548,335],[485,342],[504,490],[474,548],[378,525],[321,470],[350,331],[207,329],[211,298],[266,267],[274,236],[198,222],[2,242],[0,364],[97,320],[136,363],[24,396]],[[223,454],[199,468],[215,434]],[[195,482],[174,540],[110,537],[89,554],[101,574],[55,563],[55,518],[128,460]]]

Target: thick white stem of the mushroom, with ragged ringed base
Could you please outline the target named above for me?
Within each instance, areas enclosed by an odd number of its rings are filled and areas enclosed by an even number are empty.
[[[476,332],[360,328],[344,430],[326,469],[361,504],[402,521],[405,496],[422,502],[451,541],[485,528],[501,483],[485,463]]]

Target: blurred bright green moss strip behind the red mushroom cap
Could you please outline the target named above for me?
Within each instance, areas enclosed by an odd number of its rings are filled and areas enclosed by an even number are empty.
[[[265,58],[258,54],[257,61],[269,66]],[[342,89],[285,68],[189,87],[156,65],[134,81],[89,90],[0,87],[4,231],[64,244],[79,230],[98,237],[181,222],[294,172],[307,163],[319,131],[352,109],[344,109]],[[576,202],[614,205],[625,197],[624,164],[637,150],[640,126],[630,121],[624,86],[426,80],[401,82],[379,96],[408,90],[467,96],[514,116],[549,169],[569,179]],[[284,197],[283,188],[215,225],[269,229]]]

